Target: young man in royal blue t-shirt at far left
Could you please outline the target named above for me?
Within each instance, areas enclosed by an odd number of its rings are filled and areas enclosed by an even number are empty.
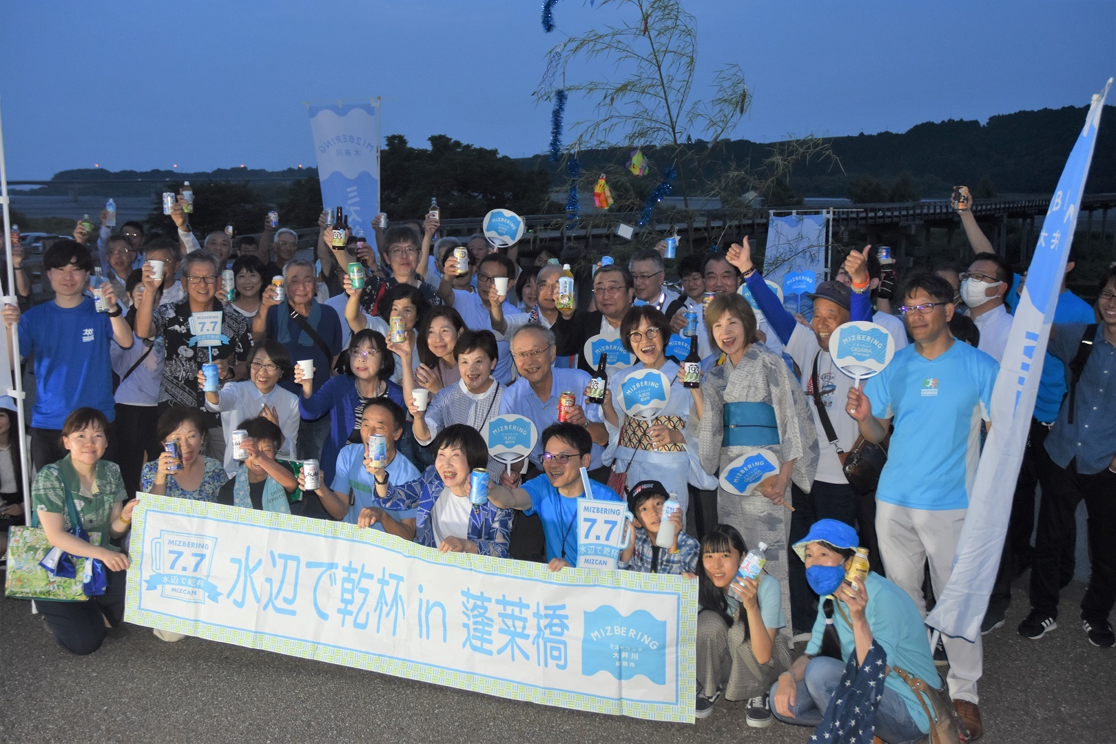
[[[108,347],[115,340],[122,349],[131,349],[133,338],[108,280],[100,289],[107,311],[97,312],[94,300],[86,297],[93,257],[85,245],[58,241],[42,254],[42,272],[55,292],[51,301],[31,308],[22,317],[15,305],[3,309],[9,352],[15,350],[11,327],[18,322],[19,354],[23,358],[35,356],[31,462],[36,470],[66,456],[60,444],[61,428],[75,408],[90,406],[109,422],[116,418]],[[10,357],[15,360],[16,355]],[[112,439],[106,458],[112,458],[110,453]]]

